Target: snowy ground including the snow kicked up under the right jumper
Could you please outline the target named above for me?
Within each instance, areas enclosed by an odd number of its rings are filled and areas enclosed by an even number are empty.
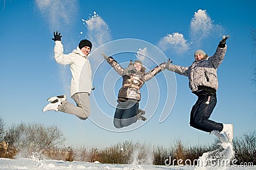
[[[220,145],[222,149],[209,151],[204,153],[201,157],[196,159],[199,166],[189,166],[191,160],[179,160],[168,158],[164,164],[166,166],[154,166],[148,164],[138,164],[138,158],[134,156],[134,163],[132,164],[100,164],[100,162],[65,162],[62,160],[49,160],[41,158],[38,153],[33,153],[31,158],[0,158],[0,170],[1,169],[124,169],[124,170],[139,170],[139,169],[256,169],[256,166],[244,162],[243,165],[238,166],[236,164],[236,158],[234,158],[234,150],[232,143],[227,142],[225,136],[218,133],[218,137],[223,139]],[[173,166],[175,161],[180,166]],[[191,162],[190,162],[191,161]],[[149,162],[153,162],[152,160]],[[227,163],[228,162],[228,163]],[[230,163],[231,162],[231,163]],[[182,166],[183,163],[185,166]]]

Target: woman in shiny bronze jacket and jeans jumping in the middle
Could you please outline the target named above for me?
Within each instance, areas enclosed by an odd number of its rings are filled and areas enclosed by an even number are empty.
[[[102,53],[102,56],[123,78],[122,88],[118,93],[118,105],[116,106],[113,121],[114,126],[122,128],[135,123],[137,120],[146,121],[147,119],[143,116],[145,111],[139,109],[141,100],[140,88],[146,81],[163,71],[166,68],[166,63],[162,63],[150,70],[150,72],[145,73],[145,67],[140,60],[136,60],[134,63],[131,61],[127,68],[122,68],[112,57],[108,57],[104,53]]]

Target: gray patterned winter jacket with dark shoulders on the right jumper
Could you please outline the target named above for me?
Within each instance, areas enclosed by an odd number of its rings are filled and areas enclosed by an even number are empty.
[[[167,69],[185,75],[189,78],[189,88],[197,91],[198,86],[207,86],[209,88],[218,89],[217,68],[223,61],[227,45],[225,48],[218,47],[213,56],[194,61],[191,66],[168,65]]]

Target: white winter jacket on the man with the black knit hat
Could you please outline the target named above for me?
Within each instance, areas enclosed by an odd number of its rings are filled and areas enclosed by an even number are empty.
[[[70,95],[79,92],[92,91],[92,70],[88,56],[77,47],[69,54],[63,54],[61,41],[56,41],[54,46],[54,58],[61,65],[70,65],[72,79],[70,83]]]

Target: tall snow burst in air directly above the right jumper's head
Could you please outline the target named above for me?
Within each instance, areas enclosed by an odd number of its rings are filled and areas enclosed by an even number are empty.
[[[212,27],[212,20],[207,15],[206,10],[198,10],[190,22],[191,40],[200,45],[200,42],[209,36]]]

